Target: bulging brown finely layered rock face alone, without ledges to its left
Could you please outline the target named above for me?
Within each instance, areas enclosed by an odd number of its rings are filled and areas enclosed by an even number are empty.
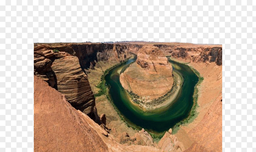
[[[55,59],[52,64],[57,78],[58,91],[63,93],[71,105],[99,123],[95,98],[87,78],[75,56]]]

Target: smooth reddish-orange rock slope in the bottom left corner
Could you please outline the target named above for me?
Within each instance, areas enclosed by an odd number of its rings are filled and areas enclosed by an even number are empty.
[[[64,95],[34,76],[34,151],[106,151]]]

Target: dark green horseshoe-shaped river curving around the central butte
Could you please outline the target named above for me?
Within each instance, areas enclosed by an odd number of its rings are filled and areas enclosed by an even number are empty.
[[[109,95],[124,119],[131,125],[158,133],[169,130],[189,115],[193,106],[194,87],[198,82],[198,77],[189,66],[169,60],[172,64],[173,71],[178,72],[183,77],[183,85],[180,92],[176,99],[167,107],[145,111],[131,104],[129,95],[119,80],[118,71],[129,67],[135,60],[136,58],[127,60],[123,64],[114,67],[105,76],[106,84],[109,87]]]

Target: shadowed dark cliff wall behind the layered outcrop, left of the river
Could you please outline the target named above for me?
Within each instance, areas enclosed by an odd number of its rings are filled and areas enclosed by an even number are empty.
[[[49,43],[35,44],[35,47],[44,47],[48,50],[59,50],[70,55],[76,56],[82,69],[93,68],[98,61],[117,62],[126,60],[131,55],[128,47],[123,44],[105,43]],[[134,46],[136,47],[136,46]],[[134,47],[130,46],[134,50]],[[136,49],[138,49],[136,47]],[[132,50],[132,51],[133,51]]]

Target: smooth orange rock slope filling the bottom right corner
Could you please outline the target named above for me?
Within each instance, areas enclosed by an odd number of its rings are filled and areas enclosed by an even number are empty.
[[[197,126],[190,130],[194,142],[187,151],[221,151],[222,147],[222,92],[210,106]]]

